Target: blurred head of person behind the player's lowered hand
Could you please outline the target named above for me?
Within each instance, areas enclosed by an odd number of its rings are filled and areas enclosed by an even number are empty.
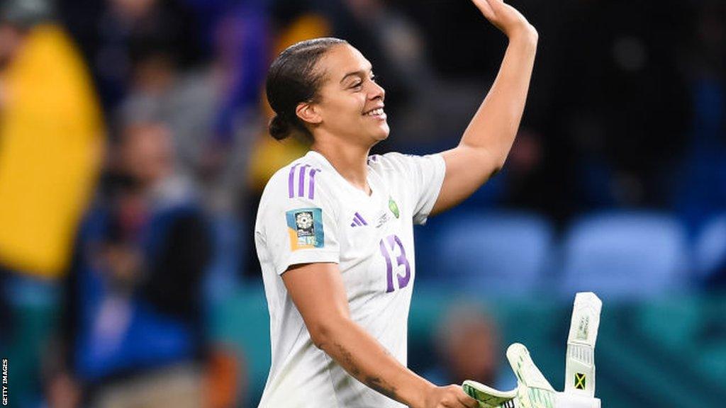
[[[436,329],[438,363],[423,375],[437,385],[475,380],[494,388],[513,385],[499,378],[499,330],[478,303],[454,303]],[[506,380],[506,379],[505,379]]]

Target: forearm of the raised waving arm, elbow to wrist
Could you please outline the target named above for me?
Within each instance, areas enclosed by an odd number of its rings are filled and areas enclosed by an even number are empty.
[[[529,90],[537,32],[510,37],[497,78],[462,136],[460,146],[486,150],[500,167],[514,142]]]

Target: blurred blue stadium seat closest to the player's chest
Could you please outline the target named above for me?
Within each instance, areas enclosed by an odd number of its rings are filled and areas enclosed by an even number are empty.
[[[452,213],[430,243],[437,280],[493,297],[530,294],[547,269],[553,235],[534,213]]]

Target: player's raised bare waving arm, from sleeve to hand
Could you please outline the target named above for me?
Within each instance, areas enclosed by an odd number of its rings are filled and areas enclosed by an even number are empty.
[[[509,38],[492,89],[464,131],[461,142],[443,152],[446,176],[431,213],[461,203],[496,174],[514,142],[527,99],[537,51],[537,30],[502,0],[472,0],[490,23]]]

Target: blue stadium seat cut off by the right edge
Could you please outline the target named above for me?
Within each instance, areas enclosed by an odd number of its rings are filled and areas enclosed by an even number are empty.
[[[726,269],[726,213],[706,221],[694,242],[694,263],[701,281]]]

